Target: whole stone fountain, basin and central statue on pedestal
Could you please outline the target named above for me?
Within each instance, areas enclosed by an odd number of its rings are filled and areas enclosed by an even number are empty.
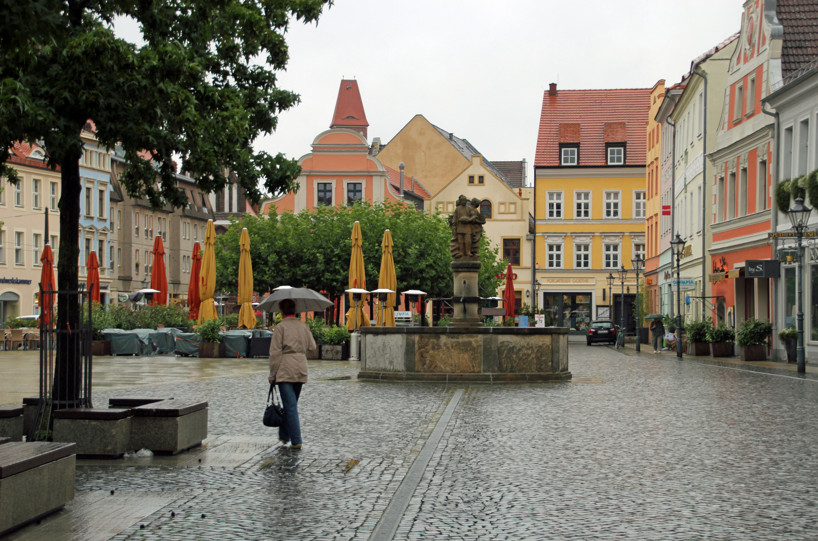
[[[454,309],[448,327],[363,327],[362,380],[564,381],[567,327],[484,327],[479,314],[478,248],[485,218],[460,196],[452,228]]]

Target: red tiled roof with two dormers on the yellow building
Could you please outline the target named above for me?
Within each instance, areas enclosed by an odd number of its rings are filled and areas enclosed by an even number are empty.
[[[605,142],[626,142],[626,165],[645,165],[650,88],[544,92],[535,167],[560,165],[560,142],[579,142],[579,165],[605,165]],[[573,139],[573,140],[572,140]]]

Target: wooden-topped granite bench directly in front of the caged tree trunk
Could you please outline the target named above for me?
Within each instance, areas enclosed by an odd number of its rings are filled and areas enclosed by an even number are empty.
[[[119,458],[132,449],[130,409],[65,408],[52,418],[52,440],[76,443],[80,458]]]

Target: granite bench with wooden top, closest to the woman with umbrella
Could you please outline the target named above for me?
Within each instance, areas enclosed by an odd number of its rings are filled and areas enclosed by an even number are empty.
[[[162,400],[133,408],[131,447],[154,453],[177,454],[207,437],[208,403]]]

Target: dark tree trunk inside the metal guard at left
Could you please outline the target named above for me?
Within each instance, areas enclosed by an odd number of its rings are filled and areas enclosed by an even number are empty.
[[[79,196],[82,185],[79,179],[79,155],[61,161],[60,196],[60,250],[57,261],[57,346],[54,369],[54,395],[56,408],[78,408],[82,395],[82,357],[77,331],[82,326],[79,313],[79,295],[65,291],[77,291],[79,280]]]

